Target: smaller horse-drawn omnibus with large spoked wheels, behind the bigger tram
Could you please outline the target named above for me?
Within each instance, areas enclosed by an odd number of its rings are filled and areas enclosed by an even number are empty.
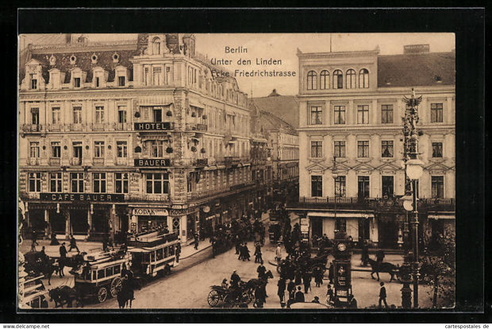
[[[122,269],[129,261],[129,255],[121,251],[87,255],[85,264],[74,272],[75,290],[83,298],[95,297],[100,303],[116,297],[122,289]]]

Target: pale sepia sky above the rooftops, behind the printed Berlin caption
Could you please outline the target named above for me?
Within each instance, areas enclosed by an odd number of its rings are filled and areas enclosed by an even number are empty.
[[[131,40],[136,34],[85,34],[90,41]],[[195,33],[196,52],[209,59],[231,60],[226,66],[231,71],[277,70],[295,71],[299,68],[297,49],[307,52],[329,52],[330,33]],[[408,44],[430,44],[431,52],[451,51],[455,48],[453,33],[332,33],[332,51],[373,50],[379,45],[381,55],[401,54]],[[247,53],[225,53],[225,47],[242,46]],[[281,65],[256,65],[258,59],[280,60]],[[237,65],[237,61],[251,60],[251,65]],[[273,89],[280,95],[296,95],[299,90],[295,77],[240,77],[240,89],[249,97],[268,96]]]

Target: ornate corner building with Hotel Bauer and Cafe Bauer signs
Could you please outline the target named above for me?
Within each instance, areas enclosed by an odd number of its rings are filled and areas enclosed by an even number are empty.
[[[254,210],[247,95],[192,34],[67,36],[19,61],[27,227],[99,240],[165,224],[187,240]]]

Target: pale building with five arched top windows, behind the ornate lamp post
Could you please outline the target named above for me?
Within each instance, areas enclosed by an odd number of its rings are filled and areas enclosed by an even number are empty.
[[[300,197],[289,204],[310,237],[402,245],[406,212],[401,118],[412,88],[419,105],[420,232],[454,230],[455,52],[408,45],[403,54],[302,53],[299,58]]]

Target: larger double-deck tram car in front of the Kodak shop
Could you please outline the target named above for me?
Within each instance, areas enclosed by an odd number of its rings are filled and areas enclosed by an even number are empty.
[[[128,239],[131,270],[137,279],[167,275],[176,262],[177,233],[151,232]]]

